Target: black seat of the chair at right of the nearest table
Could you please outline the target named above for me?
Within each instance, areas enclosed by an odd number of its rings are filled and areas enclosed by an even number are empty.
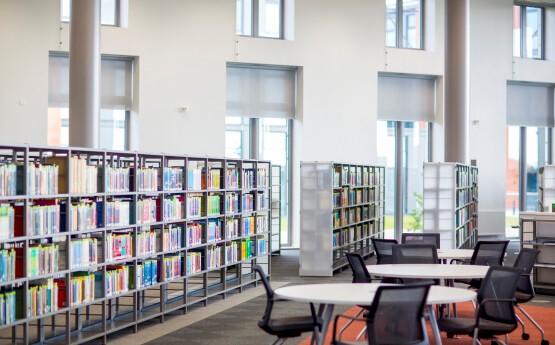
[[[452,334],[468,334],[472,336],[476,326],[476,319],[462,317],[443,318],[437,321],[437,325],[443,332]],[[514,329],[514,325],[481,319],[478,338],[488,338],[492,335],[506,334],[512,332]]]

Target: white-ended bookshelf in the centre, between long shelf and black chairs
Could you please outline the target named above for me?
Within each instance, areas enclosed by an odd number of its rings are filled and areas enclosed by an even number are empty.
[[[385,168],[301,162],[302,276],[331,276],[348,266],[345,253],[374,252],[384,233]]]

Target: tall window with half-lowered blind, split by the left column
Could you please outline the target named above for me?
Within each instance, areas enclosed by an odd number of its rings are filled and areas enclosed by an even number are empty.
[[[126,150],[132,106],[133,60],[102,57],[99,146]],[[52,54],[48,77],[48,145],[69,145],[69,57]]]

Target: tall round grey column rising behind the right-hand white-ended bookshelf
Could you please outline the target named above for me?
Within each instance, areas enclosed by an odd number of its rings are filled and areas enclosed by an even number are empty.
[[[445,161],[469,163],[468,6],[445,1]]]

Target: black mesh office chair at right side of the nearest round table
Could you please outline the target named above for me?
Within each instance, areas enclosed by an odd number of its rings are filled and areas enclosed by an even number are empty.
[[[466,334],[473,337],[473,344],[479,339],[492,339],[498,344],[506,344],[507,334],[518,327],[515,315],[514,294],[521,268],[494,266],[488,270],[478,290],[478,306],[474,318],[441,318],[438,327],[447,332],[448,337],[454,334]],[[505,342],[498,335],[505,335]]]

